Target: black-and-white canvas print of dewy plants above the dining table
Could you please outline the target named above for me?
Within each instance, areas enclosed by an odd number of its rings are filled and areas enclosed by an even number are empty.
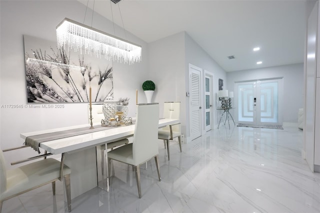
[[[111,62],[57,48],[55,41],[24,35],[28,102],[92,102],[113,97]]]

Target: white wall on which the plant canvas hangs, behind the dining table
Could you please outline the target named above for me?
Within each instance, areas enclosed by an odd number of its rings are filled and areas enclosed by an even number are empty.
[[[64,18],[82,22],[85,5],[66,0],[0,1],[0,104],[26,104],[23,34],[55,41],[55,27]],[[86,17],[91,17],[92,10]],[[88,18],[85,24],[90,24]],[[94,14],[92,27],[113,34],[112,22]],[[118,28],[118,26],[115,26]],[[115,30],[123,32],[122,30]],[[116,34],[124,37],[122,34]],[[135,116],[135,89],[145,101],[141,88],[147,73],[147,44],[127,33],[127,39],[142,46],[142,62],[113,63],[114,97],[129,97],[129,116]],[[0,108],[0,148],[22,145],[21,132],[87,123],[87,103],[65,103],[64,108]],[[34,155],[31,148],[5,152],[8,162]],[[13,156],[14,155],[14,156]],[[18,156],[18,157],[17,157]]]

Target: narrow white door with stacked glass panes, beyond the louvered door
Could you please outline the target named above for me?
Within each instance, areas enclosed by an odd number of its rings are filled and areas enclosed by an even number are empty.
[[[213,120],[213,113],[212,113],[212,85],[213,82],[213,76],[205,73],[204,77],[204,125],[205,125],[205,131],[208,131],[211,129],[212,120]]]

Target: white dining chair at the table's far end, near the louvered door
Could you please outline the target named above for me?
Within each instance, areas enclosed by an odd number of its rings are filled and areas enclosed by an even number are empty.
[[[163,117],[164,118],[176,118],[180,119],[180,102],[164,102],[163,104]],[[181,150],[181,127],[180,122],[174,123],[171,125],[167,125],[158,130],[158,139],[162,139],[164,143],[166,143],[166,149],[168,153],[168,160],[170,160],[170,151],[169,151],[169,140],[173,140],[173,138],[177,137]]]

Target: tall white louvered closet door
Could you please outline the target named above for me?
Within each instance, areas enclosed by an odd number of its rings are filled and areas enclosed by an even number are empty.
[[[201,69],[190,64],[190,137],[191,140],[201,136]]]

